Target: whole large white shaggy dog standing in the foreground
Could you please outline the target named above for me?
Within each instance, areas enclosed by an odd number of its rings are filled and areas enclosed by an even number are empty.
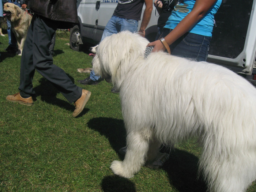
[[[227,68],[163,52],[144,59],[148,41],[124,31],[106,37],[95,73],[120,89],[127,131],[124,161],[112,171],[130,178],[161,143],[198,136],[199,170],[208,191],[244,192],[256,179],[256,89]]]

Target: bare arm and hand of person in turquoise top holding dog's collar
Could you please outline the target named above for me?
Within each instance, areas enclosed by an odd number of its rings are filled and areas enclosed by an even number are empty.
[[[166,35],[165,41],[168,45],[171,45],[174,41],[180,38],[182,35],[187,33],[198,20],[200,20],[206,12],[214,5],[217,0],[196,0],[195,5],[191,12],[181,20],[180,23]],[[161,41],[154,41],[149,43],[147,46],[154,46],[153,52],[159,50],[165,50],[165,47]]]

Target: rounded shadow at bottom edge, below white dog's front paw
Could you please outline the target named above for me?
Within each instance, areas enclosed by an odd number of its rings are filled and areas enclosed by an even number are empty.
[[[116,175],[104,177],[101,186],[104,192],[136,192],[132,181]]]

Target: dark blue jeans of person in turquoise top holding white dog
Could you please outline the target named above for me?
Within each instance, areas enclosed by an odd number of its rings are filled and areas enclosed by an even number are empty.
[[[165,37],[170,31],[172,29],[163,28],[161,37]],[[211,37],[186,33],[170,45],[171,54],[196,61],[206,61],[210,42]]]

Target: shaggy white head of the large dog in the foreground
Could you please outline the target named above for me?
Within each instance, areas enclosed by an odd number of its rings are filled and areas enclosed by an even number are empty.
[[[95,74],[111,81],[117,89],[123,82],[130,65],[138,58],[144,57],[149,41],[138,33],[122,31],[106,37],[97,48],[93,58]]]

